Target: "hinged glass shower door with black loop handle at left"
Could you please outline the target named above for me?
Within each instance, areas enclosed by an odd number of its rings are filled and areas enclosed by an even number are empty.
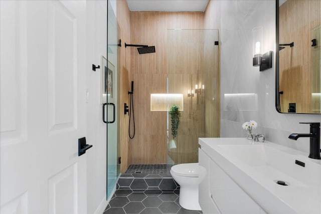
[[[119,177],[117,157],[117,71],[119,62],[119,26],[109,1],[107,1],[107,60],[103,63],[103,103],[107,102],[107,197],[109,198]],[[102,59],[104,61],[104,59]],[[113,122],[114,121],[114,122]]]

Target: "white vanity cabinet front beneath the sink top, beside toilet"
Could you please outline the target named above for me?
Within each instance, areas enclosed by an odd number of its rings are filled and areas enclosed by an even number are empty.
[[[199,185],[203,213],[265,213],[202,149],[199,164],[206,168],[206,177]]]

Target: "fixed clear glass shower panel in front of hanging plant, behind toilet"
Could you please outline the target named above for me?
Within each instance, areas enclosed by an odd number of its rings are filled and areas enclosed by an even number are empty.
[[[219,136],[218,30],[167,31],[168,93],[183,94],[177,136],[168,116],[168,163],[198,162],[198,138]]]

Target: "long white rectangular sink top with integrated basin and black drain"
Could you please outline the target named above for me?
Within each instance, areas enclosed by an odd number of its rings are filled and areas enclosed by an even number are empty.
[[[279,144],[244,138],[200,138],[199,143],[268,213],[321,213],[321,160]],[[278,180],[287,186],[277,184]]]

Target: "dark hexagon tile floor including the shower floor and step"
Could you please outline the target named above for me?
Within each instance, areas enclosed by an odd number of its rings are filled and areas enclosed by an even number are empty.
[[[130,165],[120,176],[117,190],[104,214],[199,214],[180,206],[180,187],[173,180],[173,165]]]

